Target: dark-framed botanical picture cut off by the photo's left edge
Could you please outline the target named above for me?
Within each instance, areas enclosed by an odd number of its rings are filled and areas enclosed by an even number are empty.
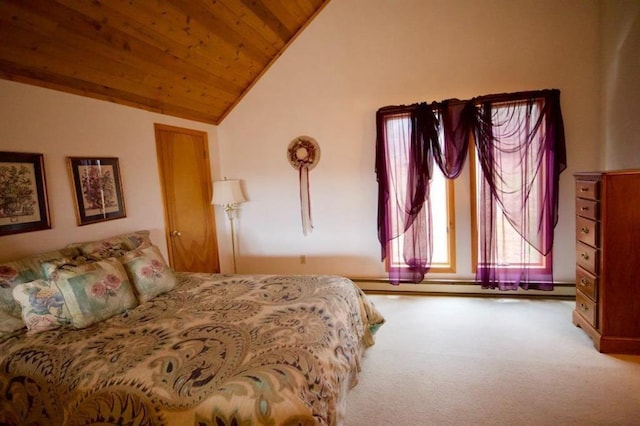
[[[0,236],[51,229],[42,154],[0,152]]]

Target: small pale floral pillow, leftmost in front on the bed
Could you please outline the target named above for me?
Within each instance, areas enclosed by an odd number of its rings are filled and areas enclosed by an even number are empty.
[[[13,289],[13,298],[22,307],[22,319],[29,330],[27,334],[71,324],[62,293],[51,281],[41,279],[18,284]]]

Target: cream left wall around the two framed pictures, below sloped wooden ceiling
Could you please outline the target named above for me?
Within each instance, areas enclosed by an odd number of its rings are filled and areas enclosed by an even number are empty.
[[[216,176],[215,126],[0,80],[0,151],[44,154],[52,222],[50,230],[0,237],[0,261],[138,229],[149,229],[166,256],[154,123],[208,132]],[[67,156],[119,158],[126,218],[77,225]]]

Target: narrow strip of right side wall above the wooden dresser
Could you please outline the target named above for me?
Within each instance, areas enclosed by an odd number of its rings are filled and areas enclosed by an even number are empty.
[[[601,2],[604,168],[640,169],[640,2]]]

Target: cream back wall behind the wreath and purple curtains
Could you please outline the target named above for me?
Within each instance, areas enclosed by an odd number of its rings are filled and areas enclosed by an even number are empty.
[[[596,0],[332,0],[219,126],[221,172],[243,179],[250,199],[237,222],[239,271],[384,277],[376,110],[558,88],[569,168],[555,276],[573,280],[572,172],[600,165],[598,38]],[[306,237],[285,156],[299,135],[322,150]],[[473,276],[468,188],[465,174],[456,181],[456,278]]]

